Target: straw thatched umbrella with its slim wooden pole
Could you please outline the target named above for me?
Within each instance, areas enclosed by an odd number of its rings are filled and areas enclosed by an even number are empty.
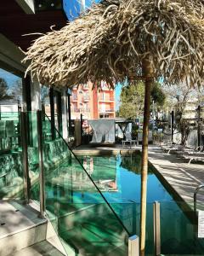
[[[144,79],[140,253],[144,254],[150,87],[203,82],[203,0],[105,0],[26,53],[28,71],[59,86]]]

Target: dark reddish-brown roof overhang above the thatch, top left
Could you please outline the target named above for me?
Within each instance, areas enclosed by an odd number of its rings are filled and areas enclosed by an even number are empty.
[[[3,1],[0,5],[0,33],[20,46],[27,49],[31,41],[39,35],[23,37],[22,35],[34,32],[48,32],[50,26],[60,29],[65,26],[67,20],[64,11],[48,10],[35,15],[27,15],[15,0]]]

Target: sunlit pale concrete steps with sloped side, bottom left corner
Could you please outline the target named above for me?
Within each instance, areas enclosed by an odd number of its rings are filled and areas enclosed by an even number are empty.
[[[69,252],[69,256],[75,256],[71,247],[65,247],[57,235],[55,217],[50,222],[38,215],[39,206],[35,202],[24,205],[20,201],[0,201],[1,256],[21,256],[21,252],[28,256],[60,256]]]

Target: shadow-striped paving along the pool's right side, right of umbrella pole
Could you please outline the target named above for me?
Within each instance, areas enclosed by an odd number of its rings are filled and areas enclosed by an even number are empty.
[[[193,197],[195,189],[204,183],[204,164],[193,162],[188,165],[186,160],[178,158],[176,154],[164,153],[159,146],[150,145],[150,163],[156,167],[157,175],[173,192],[187,205],[193,209]],[[197,207],[201,207],[204,202],[203,193],[197,195]]]

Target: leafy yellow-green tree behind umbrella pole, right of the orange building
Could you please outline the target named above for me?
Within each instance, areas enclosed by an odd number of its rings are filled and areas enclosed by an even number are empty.
[[[161,84],[154,83],[151,89],[151,102],[156,103],[155,108],[162,107],[165,102],[165,94],[161,90]],[[144,113],[144,83],[127,85],[122,88],[122,105],[119,108],[119,116],[135,119]]]

